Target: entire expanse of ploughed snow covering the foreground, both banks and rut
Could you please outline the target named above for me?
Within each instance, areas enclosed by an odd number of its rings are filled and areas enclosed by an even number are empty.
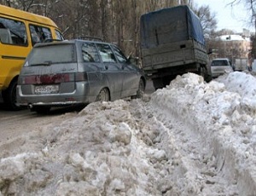
[[[186,73],[20,131],[0,142],[0,195],[254,195],[255,83]]]

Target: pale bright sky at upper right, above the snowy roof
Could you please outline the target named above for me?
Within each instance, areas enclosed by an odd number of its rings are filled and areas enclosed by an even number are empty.
[[[243,28],[254,31],[253,27],[248,26],[247,23],[247,9],[244,4],[240,3],[233,7],[227,5],[233,2],[232,0],[195,0],[199,6],[209,5],[212,12],[215,12],[218,20],[218,30],[227,28],[236,32],[242,32]]]

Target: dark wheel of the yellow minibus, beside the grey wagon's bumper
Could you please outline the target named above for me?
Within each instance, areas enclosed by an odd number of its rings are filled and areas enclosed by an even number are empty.
[[[16,87],[17,80],[14,80],[9,84],[8,89],[2,91],[3,102],[6,104],[8,109],[13,111],[20,110],[20,107],[17,105]]]

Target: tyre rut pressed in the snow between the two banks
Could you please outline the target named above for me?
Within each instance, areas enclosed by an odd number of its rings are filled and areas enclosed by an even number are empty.
[[[224,176],[225,159],[214,156],[215,149],[212,143],[207,144],[197,122],[185,121],[183,116],[156,103],[152,106],[152,101],[137,104],[145,124],[151,124],[160,134],[154,147],[165,150],[168,157],[165,167],[169,175],[160,182],[163,187],[166,183],[172,186],[163,191],[164,195],[238,195],[236,182]],[[154,118],[147,118],[150,115]]]

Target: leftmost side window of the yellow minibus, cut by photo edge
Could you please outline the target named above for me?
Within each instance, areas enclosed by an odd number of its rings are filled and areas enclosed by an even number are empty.
[[[0,17],[0,41],[6,44],[27,46],[25,24]]]

